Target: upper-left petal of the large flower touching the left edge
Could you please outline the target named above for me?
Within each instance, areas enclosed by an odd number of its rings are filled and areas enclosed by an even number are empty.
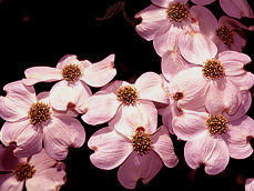
[[[37,102],[33,87],[27,87],[21,81],[14,81],[3,87],[6,97],[0,97],[0,117],[7,121],[18,121],[28,117],[28,110]]]

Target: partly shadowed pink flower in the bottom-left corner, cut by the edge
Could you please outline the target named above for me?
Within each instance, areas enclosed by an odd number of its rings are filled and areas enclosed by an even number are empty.
[[[49,158],[44,150],[31,158],[16,158],[11,148],[0,145],[1,191],[59,190],[65,183],[64,163]]]

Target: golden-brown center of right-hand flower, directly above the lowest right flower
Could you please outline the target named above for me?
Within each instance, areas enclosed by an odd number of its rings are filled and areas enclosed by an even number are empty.
[[[207,60],[202,69],[203,76],[209,79],[217,79],[225,74],[224,67],[220,60]]]

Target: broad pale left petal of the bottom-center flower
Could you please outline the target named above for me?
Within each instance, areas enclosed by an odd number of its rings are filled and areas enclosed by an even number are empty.
[[[131,141],[110,127],[96,131],[88,141],[88,147],[94,150],[90,155],[91,162],[104,170],[122,164],[133,150]]]

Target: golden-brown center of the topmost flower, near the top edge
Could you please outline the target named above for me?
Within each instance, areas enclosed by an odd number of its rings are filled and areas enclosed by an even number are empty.
[[[182,22],[189,19],[190,12],[185,4],[176,2],[171,3],[170,8],[166,10],[166,14],[171,21]]]

